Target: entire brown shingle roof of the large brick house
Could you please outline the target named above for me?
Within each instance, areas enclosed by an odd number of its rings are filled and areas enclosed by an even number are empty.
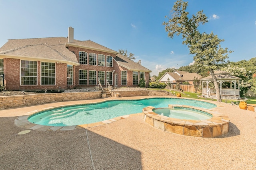
[[[66,37],[9,39],[8,42],[0,48],[0,55],[65,61],[67,63],[72,62],[78,64],[76,55],[66,48],[69,45],[78,45],[85,49],[108,51],[114,54],[113,58],[120,66],[124,66],[128,70],[151,72],[148,68],[129,60],[128,57],[124,57],[118,54],[118,52],[98,43],[90,40],[74,40],[74,42],[68,43]]]

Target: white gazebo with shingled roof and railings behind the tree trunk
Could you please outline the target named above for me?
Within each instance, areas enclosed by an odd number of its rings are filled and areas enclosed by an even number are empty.
[[[241,78],[231,76],[226,71],[214,71],[217,78],[220,95],[222,99],[236,100],[240,99],[240,80]],[[213,84],[212,75],[201,79],[202,96],[207,98],[216,98],[216,91]]]

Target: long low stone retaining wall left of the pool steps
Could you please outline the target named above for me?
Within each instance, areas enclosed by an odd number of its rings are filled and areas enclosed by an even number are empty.
[[[1,96],[0,109],[31,106],[31,105],[45,104],[45,103],[51,103],[51,102],[66,102],[66,101],[88,100],[88,99],[97,99],[97,98],[101,98],[101,91]]]

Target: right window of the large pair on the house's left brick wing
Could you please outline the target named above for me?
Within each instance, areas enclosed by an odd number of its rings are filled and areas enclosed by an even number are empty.
[[[41,85],[55,85],[55,63],[41,63]]]

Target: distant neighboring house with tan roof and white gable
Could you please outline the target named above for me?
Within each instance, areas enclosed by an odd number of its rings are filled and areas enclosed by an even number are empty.
[[[189,84],[193,84],[194,77],[197,77],[198,79],[201,79],[202,76],[192,72],[186,72],[186,71],[178,71],[174,70],[174,72],[166,72],[164,75],[159,79],[159,82],[164,82],[166,84],[169,83],[177,83],[177,82],[189,82]]]

